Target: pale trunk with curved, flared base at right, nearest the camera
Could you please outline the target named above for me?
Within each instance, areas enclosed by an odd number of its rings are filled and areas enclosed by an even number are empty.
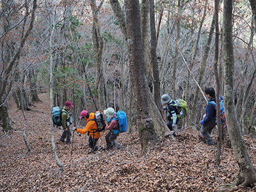
[[[234,105],[234,52],[232,42],[232,0],[224,0],[223,3],[223,58],[225,72],[224,107],[227,120],[228,134],[234,149],[239,174],[232,189],[235,186],[256,186],[256,170],[248,155],[246,144],[239,129]]]

